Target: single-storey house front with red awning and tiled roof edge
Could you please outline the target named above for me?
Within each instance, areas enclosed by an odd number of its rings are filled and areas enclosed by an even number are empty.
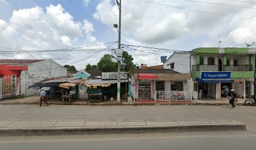
[[[131,76],[134,99],[156,100],[159,99],[159,92],[189,91],[186,81],[190,79],[190,74],[181,74],[171,69],[134,69]]]

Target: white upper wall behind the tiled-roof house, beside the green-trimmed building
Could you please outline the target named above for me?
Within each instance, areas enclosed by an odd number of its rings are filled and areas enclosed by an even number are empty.
[[[179,73],[190,73],[189,68],[189,56],[186,53],[174,53],[171,58],[169,58],[166,63],[164,63],[164,69],[171,69],[171,63],[174,63],[174,71]]]

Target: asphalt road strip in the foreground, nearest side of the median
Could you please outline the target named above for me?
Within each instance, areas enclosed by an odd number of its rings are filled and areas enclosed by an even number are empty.
[[[205,133],[119,134],[94,136],[0,137],[0,149],[255,149],[249,131]]]

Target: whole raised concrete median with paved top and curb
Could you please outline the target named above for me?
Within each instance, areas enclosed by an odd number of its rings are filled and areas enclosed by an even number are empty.
[[[0,120],[0,136],[159,133],[246,130],[234,120]]]

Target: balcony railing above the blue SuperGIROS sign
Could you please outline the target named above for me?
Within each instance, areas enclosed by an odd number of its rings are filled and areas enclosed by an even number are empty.
[[[252,65],[239,64],[239,65],[208,65],[198,64],[192,65],[191,71],[252,71]]]

